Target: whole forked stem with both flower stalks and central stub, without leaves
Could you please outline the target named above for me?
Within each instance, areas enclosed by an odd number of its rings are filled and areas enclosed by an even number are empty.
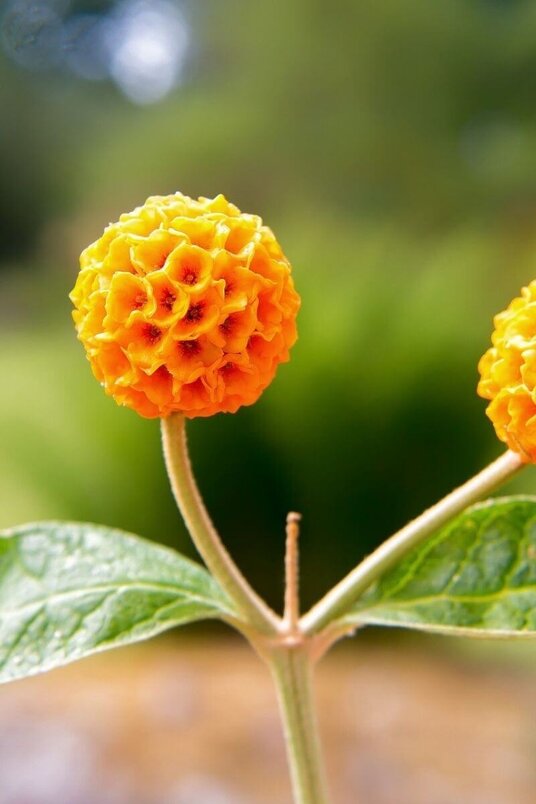
[[[192,473],[184,416],[173,414],[162,419],[162,442],[171,488],[194,544],[240,615],[240,619],[230,622],[270,667],[283,720],[295,802],[327,804],[312,673],[315,661],[345,633],[337,625],[337,618],[408,550],[509,480],[524,463],[516,453],[506,452],[391,536],[301,619],[298,551],[301,516],[291,512],[286,523],[285,607],[280,618],[244,578],[212,524]]]

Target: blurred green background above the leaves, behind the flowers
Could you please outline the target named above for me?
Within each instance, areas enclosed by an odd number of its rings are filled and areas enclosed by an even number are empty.
[[[192,423],[194,465],[273,605],[303,512],[313,602],[502,449],[476,364],[536,276],[536,5],[1,8],[0,525],[91,520],[194,555],[158,424],[104,396],[67,294],[122,211],[223,192],[283,244],[300,339],[254,407]]]

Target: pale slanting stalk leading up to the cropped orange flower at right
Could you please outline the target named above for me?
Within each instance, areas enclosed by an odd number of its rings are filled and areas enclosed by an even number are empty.
[[[501,486],[526,465],[517,453],[508,450],[478,475],[391,536],[302,617],[300,626],[303,633],[313,634],[321,630],[354,603],[373,581],[408,550],[424,541],[468,505]]]

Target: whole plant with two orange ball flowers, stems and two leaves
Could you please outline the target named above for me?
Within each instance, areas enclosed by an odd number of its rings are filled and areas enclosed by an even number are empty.
[[[105,526],[43,522],[0,539],[0,680],[215,618],[271,670],[296,802],[328,801],[312,694],[318,660],[367,624],[536,635],[536,498],[479,500],[536,461],[536,282],[495,319],[478,391],[506,452],[391,536],[303,616],[299,514],[284,612],[252,589],[196,486],[186,420],[255,402],[296,340],[300,298],[272,231],[223,196],[155,196],[80,258],[78,337],[119,405],[160,418],[177,505],[206,565]],[[475,505],[475,503],[477,503]]]

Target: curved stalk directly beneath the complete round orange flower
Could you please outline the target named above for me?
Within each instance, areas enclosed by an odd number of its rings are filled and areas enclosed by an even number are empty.
[[[192,473],[184,416],[175,413],[162,419],[162,444],[173,495],[207,567],[249,625],[263,634],[276,633],[279,618],[246,581],[207,513]]]

